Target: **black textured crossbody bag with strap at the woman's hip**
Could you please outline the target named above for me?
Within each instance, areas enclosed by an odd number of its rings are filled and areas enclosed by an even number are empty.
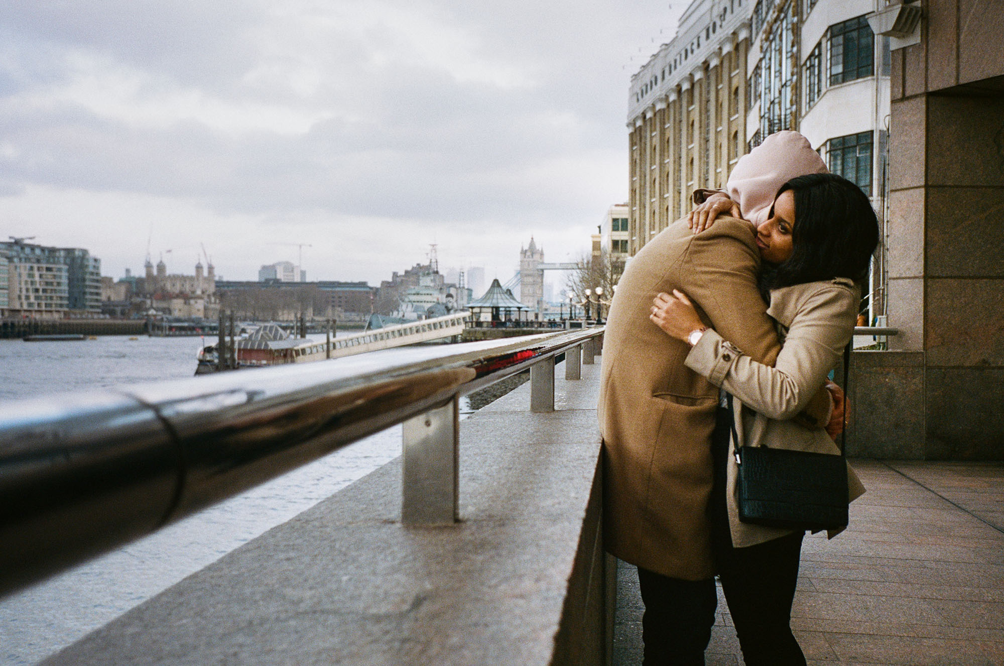
[[[843,354],[843,390],[847,391],[850,344]],[[729,397],[733,442],[735,413]],[[844,401],[846,407],[846,400]],[[766,446],[737,446],[739,519],[771,527],[833,529],[847,524],[846,432],[840,455],[791,451]]]

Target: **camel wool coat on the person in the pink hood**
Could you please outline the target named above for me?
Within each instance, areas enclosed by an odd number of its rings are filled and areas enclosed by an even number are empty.
[[[691,348],[649,319],[653,298],[680,289],[702,320],[747,358],[780,352],[757,289],[760,253],[749,223],[720,218],[695,235],[680,220],[629,262],[607,315],[599,427],[606,549],[649,571],[691,581],[714,576],[707,516],[711,435],[719,390],[686,367]],[[822,427],[825,391],[806,410]]]

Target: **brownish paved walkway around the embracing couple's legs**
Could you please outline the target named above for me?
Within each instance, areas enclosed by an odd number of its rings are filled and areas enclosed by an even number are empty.
[[[792,628],[809,664],[1004,665],[1004,463],[853,461],[868,491],[802,546]],[[618,572],[614,666],[642,663],[642,600]],[[719,590],[708,664],[742,664]]]

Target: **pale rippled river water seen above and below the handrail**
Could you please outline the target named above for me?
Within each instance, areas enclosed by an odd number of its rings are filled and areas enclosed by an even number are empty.
[[[192,377],[200,345],[198,338],[0,340],[0,402]],[[399,455],[401,426],[0,599],[0,664],[44,659]]]

